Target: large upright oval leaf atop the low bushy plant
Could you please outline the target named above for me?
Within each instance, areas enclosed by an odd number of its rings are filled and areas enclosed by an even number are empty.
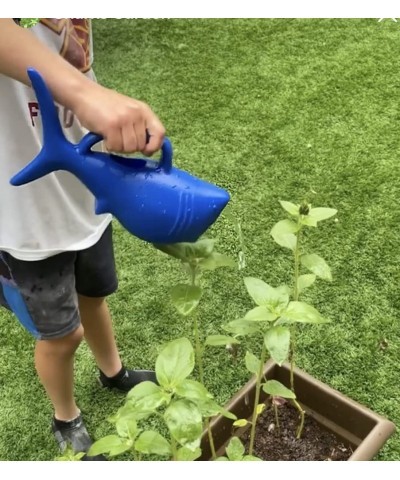
[[[169,342],[156,361],[158,383],[173,390],[194,369],[194,350],[187,338],[178,338]]]

